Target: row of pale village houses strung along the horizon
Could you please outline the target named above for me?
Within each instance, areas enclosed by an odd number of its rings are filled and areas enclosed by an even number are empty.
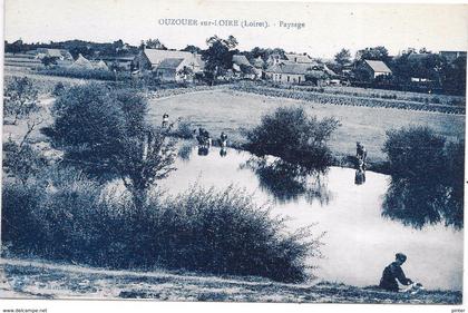
[[[76,60],[64,49],[38,48],[27,52],[33,59],[53,58],[60,67],[72,69],[128,70],[134,75],[152,72],[160,81],[193,81],[205,69],[205,61],[199,53],[177,50],[162,50],[143,48],[137,55],[98,57],[88,60],[79,55]],[[447,60],[455,60],[466,56],[465,51],[440,51]],[[423,58],[425,53],[411,53],[410,58]],[[261,57],[247,59],[244,55],[232,57],[232,68],[223,74],[222,79],[265,79],[279,84],[291,85],[335,85],[342,82],[347,74],[359,69],[370,80],[390,76],[391,69],[383,61],[362,60],[359,63],[344,66],[337,74],[321,60],[313,59],[306,53],[273,53],[267,60]],[[411,80],[422,81],[425,78],[415,77]]]

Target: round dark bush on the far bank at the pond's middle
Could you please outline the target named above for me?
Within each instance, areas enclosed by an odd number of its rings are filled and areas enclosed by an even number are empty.
[[[332,163],[326,140],[339,125],[335,118],[309,117],[303,108],[277,108],[246,131],[246,148],[257,156],[281,157],[308,170],[326,167]]]

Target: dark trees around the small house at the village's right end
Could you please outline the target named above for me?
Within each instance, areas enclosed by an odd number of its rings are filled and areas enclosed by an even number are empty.
[[[383,61],[392,74],[373,79],[362,69],[364,60]],[[354,58],[350,50],[341,49],[328,65],[357,87],[461,96],[466,92],[466,53],[447,58],[426,48],[408,48],[392,57],[386,47],[379,46],[361,49]]]

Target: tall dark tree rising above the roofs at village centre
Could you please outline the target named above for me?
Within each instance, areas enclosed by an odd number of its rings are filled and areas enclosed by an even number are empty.
[[[205,60],[205,71],[213,85],[216,78],[224,75],[232,68],[234,48],[237,47],[237,40],[230,36],[227,39],[213,36],[206,40],[208,49],[204,51],[202,58]]]

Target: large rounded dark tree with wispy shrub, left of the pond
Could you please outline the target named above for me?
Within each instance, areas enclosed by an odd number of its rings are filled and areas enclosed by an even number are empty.
[[[52,113],[50,137],[64,150],[64,162],[99,179],[120,178],[137,209],[156,180],[174,170],[168,130],[146,123],[146,100],[131,90],[75,86],[57,99]]]

